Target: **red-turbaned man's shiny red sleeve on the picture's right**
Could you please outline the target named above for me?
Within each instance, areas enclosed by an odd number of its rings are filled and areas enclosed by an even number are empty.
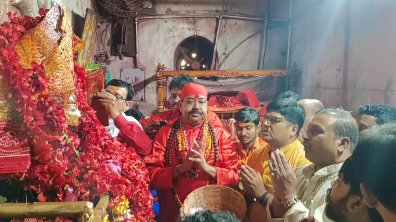
[[[220,134],[221,136],[218,143],[221,162],[219,162],[219,165],[215,167],[217,184],[236,186],[239,179],[239,161],[236,156],[234,140],[231,138],[230,133],[223,129],[221,131],[223,132]]]

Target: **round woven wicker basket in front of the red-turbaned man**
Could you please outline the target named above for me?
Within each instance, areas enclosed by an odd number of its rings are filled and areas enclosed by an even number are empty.
[[[236,214],[240,220],[246,214],[244,197],[228,186],[207,185],[194,190],[184,200],[181,215],[188,216],[190,209],[198,207],[211,211],[228,211]]]

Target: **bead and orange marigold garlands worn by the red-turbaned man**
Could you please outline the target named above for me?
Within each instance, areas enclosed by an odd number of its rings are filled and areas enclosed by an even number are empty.
[[[173,141],[177,141],[175,144],[173,144]],[[172,166],[172,157],[171,157],[171,150],[175,150],[175,155],[177,160],[179,161],[179,164],[182,164],[183,160],[185,159],[187,153],[190,151],[190,147],[188,147],[187,144],[187,136],[186,136],[186,129],[183,121],[181,120],[181,117],[173,124],[173,127],[171,129],[171,132],[169,134],[168,138],[168,143],[166,146],[166,159],[165,159],[165,166],[169,167]],[[209,160],[211,158],[211,153],[214,151],[214,161],[213,161],[213,166],[216,166],[217,164],[217,159],[218,159],[218,153],[217,153],[217,144],[216,144],[216,138],[215,134],[213,131],[213,128],[208,121],[208,119],[205,119],[202,126],[200,126],[200,131],[198,133],[198,139],[197,139],[198,144],[202,143],[202,146],[200,147],[200,151],[204,153],[206,163],[209,164]],[[194,178],[198,176],[198,173],[200,173],[200,170],[196,167],[193,167],[190,169],[187,173],[185,173],[185,177],[187,178]],[[209,178],[206,184],[209,184]],[[179,196],[177,195],[176,191],[174,188],[171,188],[173,198],[175,199],[176,203],[179,205],[179,207],[183,206],[183,203],[181,202]]]

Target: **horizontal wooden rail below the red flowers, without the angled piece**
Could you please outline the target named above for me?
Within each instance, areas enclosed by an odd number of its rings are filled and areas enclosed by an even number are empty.
[[[90,216],[93,203],[77,202],[34,202],[34,203],[2,203],[0,218],[56,218]]]

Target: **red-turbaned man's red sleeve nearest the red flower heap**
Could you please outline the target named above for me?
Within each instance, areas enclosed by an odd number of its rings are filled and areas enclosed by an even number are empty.
[[[166,141],[169,136],[169,128],[162,127],[152,142],[152,154],[145,158],[150,179],[150,188],[152,190],[162,190],[173,188],[172,169],[173,167],[165,167],[165,149]]]

